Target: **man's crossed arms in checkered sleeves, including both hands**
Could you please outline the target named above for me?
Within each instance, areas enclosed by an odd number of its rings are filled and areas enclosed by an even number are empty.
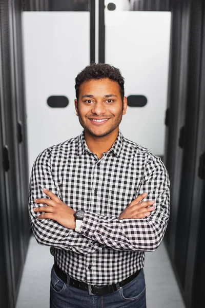
[[[29,187],[31,226],[39,244],[89,254],[103,247],[116,250],[155,251],[165,233],[169,219],[169,177],[160,166],[155,172],[145,172],[134,199],[117,218],[85,211],[81,233],[75,232],[75,211],[60,200],[53,181],[49,158],[42,153],[36,159]],[[152,163],[152,162],[150,162]],[[148,168],[147,168],[148,169]],[[152,169],[152,168],[150,168]],[[49,176],[48,176],[49,175]],[[153,195],[152,183],[163,178]],[[43,191],[44,188],[48,188]],[[147,192],[142,195],[142,192]],[[154,208],[146,197],[154,196]],[[36,210],[34,208],[37,207]],[[39,215],[38,212],[44,211]]]

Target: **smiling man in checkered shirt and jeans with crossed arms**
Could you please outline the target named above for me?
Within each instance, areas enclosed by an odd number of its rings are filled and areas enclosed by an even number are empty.
[[[54,256],[50,307],[145,308],[145,252],[165,234],[169,176],[119,131],[127,109],[120,71],[92,64],[75,81],[84,131],[40,153],[29,189],[33,233]]]

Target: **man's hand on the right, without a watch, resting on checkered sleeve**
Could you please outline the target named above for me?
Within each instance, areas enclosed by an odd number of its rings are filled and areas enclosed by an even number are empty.
[[[139,195],[134,199],[120,214],[119,219],[122,218],[145,218],[150,215],[150,212],[154,209],[154,206],[147,207],[148,205],[153,205],[155,201],[144,201],[139,203],[142,199],[147,197],[148,193]]]

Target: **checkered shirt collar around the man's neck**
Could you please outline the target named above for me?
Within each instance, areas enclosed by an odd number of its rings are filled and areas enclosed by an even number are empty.
[[[107,152],[113,152],[114,155],[116,157],[119,156],[121,149],[122,149],[122,143],[123,143],[123,136],[121,131],[119,130],[117,139],[115,140],[115,142],[113,143],[112,147],[110,148],[110,150]],[[91,153],[90,149],[88,148],[87,144],[86,144],[86,140],[85,140],[85,136],[84,136],[84,130],[82,131],[82,133],[79,136],[79,142],[78,142],[78,156],[82,155],[85,151],[88,151]]]

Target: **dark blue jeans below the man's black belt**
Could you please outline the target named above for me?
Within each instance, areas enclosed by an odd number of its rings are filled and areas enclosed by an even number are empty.
[[[118,291],[103,296],[89,295],[87,291],[67,284],[58,278],[52,267],[50,308],[146,308],[143,269],[134,280]]]

